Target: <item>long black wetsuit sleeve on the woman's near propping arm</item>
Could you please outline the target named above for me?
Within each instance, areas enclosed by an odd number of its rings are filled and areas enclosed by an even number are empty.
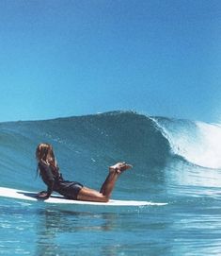
[[[43,179],[44,183],[47,185],[47,197],[50,197],[53,193],[53,188],[55,184],[55,177],[52,173],[50,165],[47,165],[43,162],[39,162],[40,176]]]

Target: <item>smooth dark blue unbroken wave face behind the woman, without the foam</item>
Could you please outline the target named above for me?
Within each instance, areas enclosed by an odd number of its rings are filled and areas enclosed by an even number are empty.
[[[0,139],[1,169],[8,186],[32,182],[40,142],[54,145],[65,176],[87,179],[88,185],[101,183],[107,166],[118,161],[140,170],[162,168],[170,150],[155,122],[134,112],[2,123]]]

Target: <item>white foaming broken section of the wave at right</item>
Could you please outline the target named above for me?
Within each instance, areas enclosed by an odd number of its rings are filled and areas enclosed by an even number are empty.
[[[173,154],[205,168],[221,168],[221,127],[198,121],[155,117]]]

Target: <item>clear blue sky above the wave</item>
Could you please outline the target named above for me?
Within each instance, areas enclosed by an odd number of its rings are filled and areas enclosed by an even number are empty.
[[[0,122],[221,121],[221,1],[1,0]]]

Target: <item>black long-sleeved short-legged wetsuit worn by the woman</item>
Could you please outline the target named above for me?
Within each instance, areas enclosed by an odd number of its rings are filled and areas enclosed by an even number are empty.
[[[47,197],[51,196],[53,191],[70,199],[77,199],[79,191],[83,185],[79,182],[64,180],[58,167],[39,162],[39,175],[47,185]]]

